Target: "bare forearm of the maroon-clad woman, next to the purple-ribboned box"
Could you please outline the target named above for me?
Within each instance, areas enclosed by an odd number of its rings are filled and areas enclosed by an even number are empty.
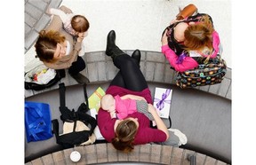
[[[153,115],[154,120],[156,122],[157,129],[164,131],[164,133],[166,134],[166,140],[167,140],[169,138],[169,131],[165,126],[164,122],[162,121],[162,119],[157,114],[156,108],[153,105],[148,104],[148,112]]]

